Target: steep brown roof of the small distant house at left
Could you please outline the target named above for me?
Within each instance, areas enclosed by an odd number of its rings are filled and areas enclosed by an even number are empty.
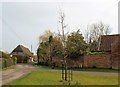
[[[30,50],[22,45],[18,45],[12,52],[11,54],[24,54],[26,56],[32,56],[32,53]]]

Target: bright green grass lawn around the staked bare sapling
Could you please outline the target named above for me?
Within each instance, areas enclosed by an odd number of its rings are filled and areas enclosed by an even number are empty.
[[[15,80],[9,85],[63,85],[61,72],[58,71],[33,71],[26,77]],[[73,74],[72,85],[117,85],[117,76]]]

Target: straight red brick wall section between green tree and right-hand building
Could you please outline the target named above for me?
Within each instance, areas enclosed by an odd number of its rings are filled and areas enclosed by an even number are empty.
[[[111,68],[111,55],[85,55],[84,67]]]

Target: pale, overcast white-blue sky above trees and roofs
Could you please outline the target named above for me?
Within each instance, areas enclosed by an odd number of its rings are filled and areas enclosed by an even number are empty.
[[[119,0],[5,0],[0,2],[0,49],[11,52],[21,44],[36,53],[39,36],[46,30],[58,33],[60,8],[68,25],[66,32],[102,21],[109,24],[111,34],[118,33]]]

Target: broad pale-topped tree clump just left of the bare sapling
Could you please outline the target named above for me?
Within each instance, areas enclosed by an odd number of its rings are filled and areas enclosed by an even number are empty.
[[[46,31],[40,36],[39,47],[37,49],[38,64],[40,61],[48,65],[52,65],[52,59],[55,56],[62,56],[62,41],[58,35],[53,34],[51,31]]]

